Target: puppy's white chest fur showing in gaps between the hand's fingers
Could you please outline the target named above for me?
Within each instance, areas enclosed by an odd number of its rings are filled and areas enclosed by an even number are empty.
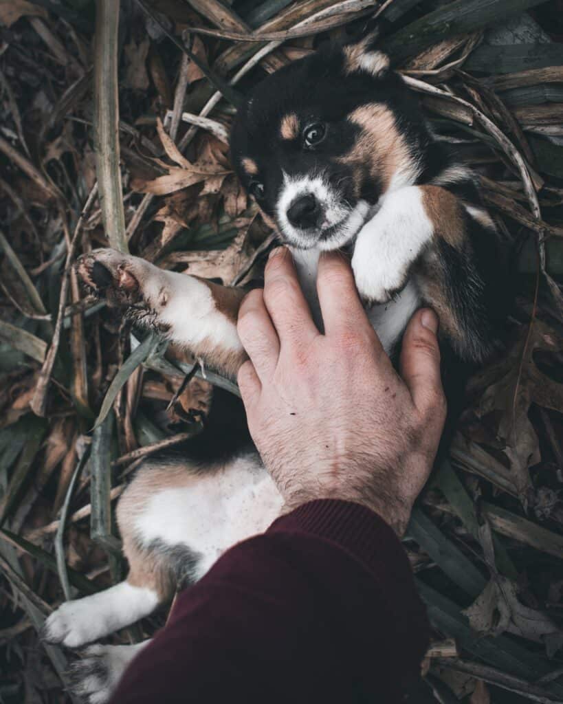
[[[309,303],[317,326],[322,329],[322,316],[317,296],[317,271],[320,250],[294,249],[295,261],[301,288]],[[406,286],[392,301],[381,306],[366,306],[367,317],[371,322],[381,344],[387,353],[391,354],[397,341],[403,334],[412,314],[420,307],[421,299],[415,282],[410,279]],[[343,305],[346,303],[343,301]]]

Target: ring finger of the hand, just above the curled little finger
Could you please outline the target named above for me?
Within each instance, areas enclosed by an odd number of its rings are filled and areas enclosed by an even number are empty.
[[[264,305],[262,289],[253,289],[244,298],[236,331],[258,377],[263,380],[272,375],[279,358],[279,339]]]

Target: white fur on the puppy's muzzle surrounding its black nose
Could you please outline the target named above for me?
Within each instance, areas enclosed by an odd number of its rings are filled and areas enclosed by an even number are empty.
[[[291,203],[301,196],[312,194],[320,203],[323,220],[318,228],[301,230],[291,225],[287,210]],[[335,191],[322,175],[289,176],[284,172],[284,185],[281,187],[276,205],[277,222],[286,241],[299,249],[318,247],[324,251],[338,249],[354,237],[365,220],[369,206],[358,201],[355,208],[343,206],[341,194]],[[336,230],[320,239],[323,230],[336,227]]]

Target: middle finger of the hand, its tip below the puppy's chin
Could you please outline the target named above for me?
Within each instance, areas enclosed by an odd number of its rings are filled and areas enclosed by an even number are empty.
[[[285,247],[270,254],[264,273],[264,302],[282,347],[307,344],[319,334],[301,291],[293,258]]]

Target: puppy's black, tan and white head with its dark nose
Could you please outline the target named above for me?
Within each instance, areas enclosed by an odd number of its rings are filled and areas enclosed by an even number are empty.
[[[331,44],[258,84],[233,125],[234,167],[281,238],[337,249],[384,191],[414,182],[422,120],[369,38]]]

